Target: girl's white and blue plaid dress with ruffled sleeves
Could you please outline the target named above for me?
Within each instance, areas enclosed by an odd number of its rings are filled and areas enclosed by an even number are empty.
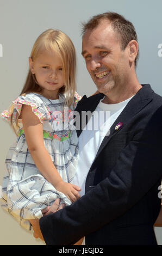
[[[13,124],[21,113],[22,104],[30,105],[40,119],[45,148],[65,182],[73,181],[78,163],[78,138],[70,121],[79,99],[76,93],[70,107],[64,107],[63,94],[59,94],[58,100],[49,100],[38,93],[28,93],[13,101]],[[1,116],[10,120],[8,111],[3,111]],[[7,173],[2,185],[2,208],[13,215],[22,227],[30,229],[28,220],[42,217],[41,210],[55,199],[61,198],[66,205],[71,202],[63,193],[55,190],[36,168],[28,150],[22,119],[18,119],[17,135],[17,141],[9,148],[5,160]]]

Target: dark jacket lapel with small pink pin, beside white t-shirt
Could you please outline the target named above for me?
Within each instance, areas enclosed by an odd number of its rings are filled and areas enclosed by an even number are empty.
[[[115,136],[116,133],[120,132],[122,128],[129,122],[131,118],[134,117],[135,114],[141,111],[151,100],[152,100],[152,93],[153,90],[149,84],[142,85],[143,87],[135,94],[135,96],[128,102],[127,106],[123,109],[119,117],[115,120],[114,124],[110,128],[110,133],[108,136],[105,136],[101,146],[98,149],[97,155],[101,153],[105,145],[108,144],[110,138]],[[117,123],[122,122],[123,125],[120,127],[119,130],[115,130],[115,126]],[[94,160],[95,162],[95,160]]]

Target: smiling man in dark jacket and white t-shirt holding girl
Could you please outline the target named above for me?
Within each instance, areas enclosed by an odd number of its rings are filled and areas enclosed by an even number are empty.
[[[80,115],[110,111],[111,129],[109,133],[109,127],[104,127],[104,138],[99,129],[91,135],[86,129],[77,131],[79,164],[74,184],[78,182],[83,196],[42,217],[42,236],[47,245],[70,245],[83,236],[86,245],[155,245],[162,99],[136,77],[136,33],[121,15],[92,17],[84,25],[82,47],[86,68],[100,94],[84,96],[76,111]],[[39,236],[39,225],[34,229]]]

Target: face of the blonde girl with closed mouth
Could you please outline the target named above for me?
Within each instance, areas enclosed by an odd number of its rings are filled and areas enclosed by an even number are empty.
[[[63,63],[57,52],[41,52],[34,60],[29,58],[30,70],[43,88],[42,95],[57,99],[59,89],[64,86]]]

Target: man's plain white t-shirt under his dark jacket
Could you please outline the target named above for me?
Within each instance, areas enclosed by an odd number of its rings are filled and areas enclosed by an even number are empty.
[[[133,96],[132,96],[133,97]],[[110,127],[119,117],[120,113],[132,99],[130,97],[116,104],[103,103],[101,99],[92,113],[88,124],[79,136],[79,162],[74,176],[73,184],[81,188],[80,197],[85,194],[85,181],[89,169],[94,162],[97,151],[106,135],[109,135]],[[104,115],[103,115],[104,114]]]

